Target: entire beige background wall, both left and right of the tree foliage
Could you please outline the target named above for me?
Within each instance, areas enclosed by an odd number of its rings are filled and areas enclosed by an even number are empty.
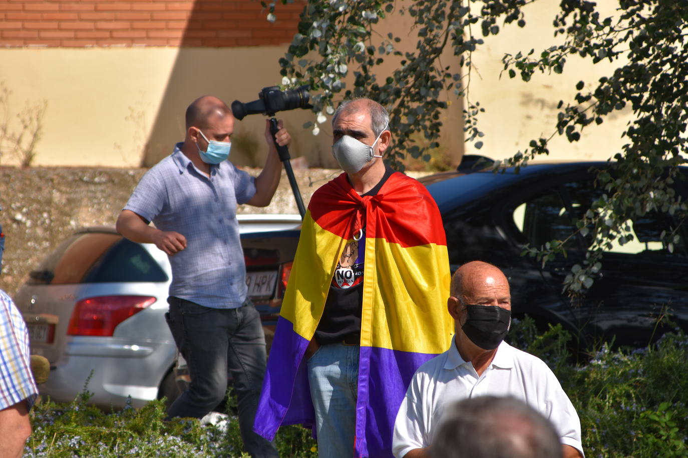
[[[480,118],[486,136],[481,150],[467,144],[466,152],[503,159],[526,148],[531,138],[548,137],[558,100],[568,100],[579,80],[594,82],[609,71],[608,65],[572,59],[563,75],[536,75],[529,83],[499,79],[504,52],[539,51],[553,42],[550,24],[556,7],[556,2],[528,5],[525,29],[507,27],[487,38],[486,46],[473,55],[477,71],[471,77],[471,100],[480,100],[486,108]],[[409,28],[408,23],[394,25],[394,30]],[[211,93],[228,104],[235,99],[247,102],[255,100],[261,88],[279,84],[277,60],[286,46],[6,48],[0,49],[0,82],[12,91],[12,113],[27,103],[47,101],[34,165],[136,167],[169,154],[183,137],[184,109],[198,96]],[[451,56],[444,62],[456,66]],[[464,148],[460,108],[460,102],[453,104],[443,119],[442,148],[455,156]],[[294,137],[292,157],[334,167],[329,119],[314,136],[301,127],[314,120],[310,111],[278,117],[285,119]],[[264,161],[263,118],[251,115],[238,123],[232,152],[236,163],[259,166]],[[620,133],[629,119],[627,111],[617,113],[601,126],[586,129],[577,144],[555,137],[549,159],[607,159],[619,150]],[[0,157],[0,165],[17,163],[10,154]]]

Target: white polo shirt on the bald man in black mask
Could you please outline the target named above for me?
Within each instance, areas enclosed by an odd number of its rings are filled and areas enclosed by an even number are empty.
[[[477,396],[513,396],[554,424],[561,444],[583,453],[581,421],[561,384],[543,360],[502,342],[492,363],[478,376],[451,347],[418,368],[394,423],[392,451],[397,458],[432,443],[444,407]]]

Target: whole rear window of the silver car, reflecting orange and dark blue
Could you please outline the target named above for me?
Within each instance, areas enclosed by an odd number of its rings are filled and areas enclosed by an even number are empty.
[[[114,233],[68,238],[30,273],[29,284],[166,282],[167,275],[140,244]]]

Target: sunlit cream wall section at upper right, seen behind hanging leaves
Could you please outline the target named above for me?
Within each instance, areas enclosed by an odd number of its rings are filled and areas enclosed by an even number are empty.
[[[585,81],[585,89],[590,89],[601,76],[611,74],[619,65],[616,62],[612,67],[607,61],[592,65],[590,60],[574,56],[568,59],[560,75],[536,73],[530,82],[523,82],[520,76],[511,80],[505,72],[499,78],[505,53],[515,55],[522,51],[526,54],[535,49],[535,55],[539,55],[543,49],[557,44],[551,24],[558,11],[558,2],[530,3],[524,11],[526,27],[502,28],[499,35],[485,38],[486,52],[473,55],[477,71],[472,76],[471,100],[480,100],[486,108],[486,113],[480,118],[485,137],[482,138],[484,146],[481,150],[475,149],[473,144],[466,144],[466,154],[504,159],[518,150],[526,150],[530,139],[550,137],[555,132],[559,100],[565,103],[573,100],[577,82]],[[612,14],[612,10],[607,13]],[[550,142],[549,156],[538,160],[606,160],[619,152],[624,144],[621,133],[630,119],[630,108],[615,112],[606,117],[603,124],[585,128],[581,141],[573,144],[565,136],[557,135]]]

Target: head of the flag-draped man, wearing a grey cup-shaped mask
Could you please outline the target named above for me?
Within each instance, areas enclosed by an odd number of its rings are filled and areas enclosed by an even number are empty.
[[[345,100],[332,117],[332,133],[332,154],[342,170],[348,174],[365,171],[389,147],[389,114],[374,100]]]

